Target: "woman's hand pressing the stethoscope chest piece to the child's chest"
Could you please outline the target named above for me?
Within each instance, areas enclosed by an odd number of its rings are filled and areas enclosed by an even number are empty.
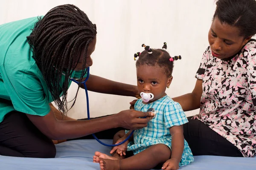
[[[124,127],[125,129],[137,130],[148,125],[150,119],[154,117],[152,112],[141,112],[135,111],[134,109],[121,111],[116,114],[116,118],[119,127]],[[145,117],[145,118],[143,118]]]

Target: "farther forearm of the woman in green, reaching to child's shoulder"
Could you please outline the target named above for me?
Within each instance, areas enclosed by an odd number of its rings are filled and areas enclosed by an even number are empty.
[[[133,96],[137,98],[140,97],[137,86],[135,85],[115,82],[92,74],[90,74],[90,77],[86,82],[86,86],[88,91],[94,91],[97,93]],[[84,89],[83,84],[81,84],[80,87]]]

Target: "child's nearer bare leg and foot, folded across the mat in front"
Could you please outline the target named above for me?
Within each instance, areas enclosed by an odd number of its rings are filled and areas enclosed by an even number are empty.
[[[126,159],[100,159],[101,170],[149,170],[170,159],[171,150],[165,144],[153,145]]]

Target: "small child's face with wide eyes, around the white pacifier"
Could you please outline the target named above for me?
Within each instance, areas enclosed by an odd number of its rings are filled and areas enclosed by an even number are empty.
[[[137,67],[137,86],[139,92],[152,93],[153,102],[166,95],[166,87],[172,82],[172,77],[167,77],[164,68],[159,66],[141,65]]]

